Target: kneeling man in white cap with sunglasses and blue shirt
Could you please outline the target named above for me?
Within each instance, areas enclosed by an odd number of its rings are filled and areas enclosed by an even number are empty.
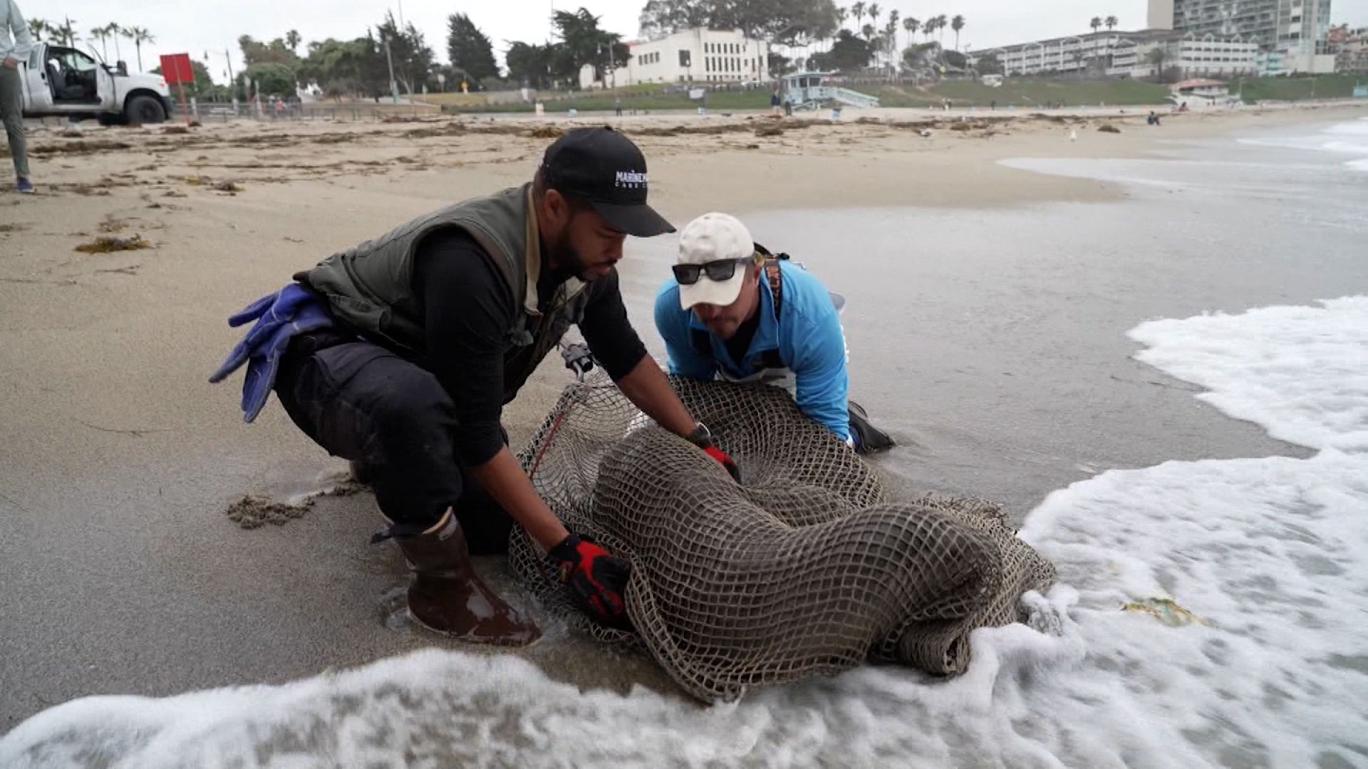
[[[735,216],[705,213],[680,233],[674,276],[655,296],[670,374],[765,382],[855,445],[847,410],[845,335],[814,275],[772,256]]]

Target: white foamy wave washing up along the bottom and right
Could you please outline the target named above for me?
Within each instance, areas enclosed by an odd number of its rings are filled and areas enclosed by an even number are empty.
[[[1150,322],[1137,357],[1311,458],[1170,461],[1052,493],[1030,627],[949,681],[863,668],[702,707],[424,650],[280,684],[92,696],[0,739],[49,766],[1347,766],[1368,634],[1368,298]]]

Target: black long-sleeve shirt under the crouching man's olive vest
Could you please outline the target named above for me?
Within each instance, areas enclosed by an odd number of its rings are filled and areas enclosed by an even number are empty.
[[[536,283],[546,307],[569,279],[543,263]],[[590,300],[580,333],[594,357],[614,380],[646,357],[646,345],[627,319],[617,271],[588,285]],[[517,287],[521,296],[523,289]],[[420,302],[427,356],[423,365],[456,404],[461,426],[457,458],[465,467],[488,461],[503,446],[503,352],[521,302],[509,297],[494,260],[464,230],[449,229],[419,244],[413,264],[413,294]]]

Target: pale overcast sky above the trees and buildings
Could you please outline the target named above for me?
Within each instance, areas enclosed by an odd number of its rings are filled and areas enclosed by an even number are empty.
[[[854,0],[837,0],[850,5]],[[144,68],[156,66],[159,53],[189,52],[196,59],[209,53],[209,71],[223,81],[224,56],[230,49],[234,68],[241,68],[242,55],[237,38],[250,34],[269,40],[295,29],[305,41],[327,37],[353,38],[365,27],[383,19],[386,10],[402,15],[427,37],[428,45],[446,59],[446,18],[465,12],[494,41],[502,63],[502,51],[509,41],[543,41],[550,34],[549,18],[553,3],[561,10],[580,5],[602,16],[606,29],[624,38],[636,37],[637,15],[644,0],[482,0],[454,3],[451,0],[332,0],[330,3],[305,0],[16,0],[25,16],[62,21],[70,16],[77,30],[85,36],[92,27],[108,22],[122,26],[142,26],[156,36],[150,49],[144,48]],[[1146,0],[889,0],[880,1],[888,11],[897,8],[903,18],[926,19],[945,14],[962,14],[966,27],[960,34],[963,48],[989,48],[1010,42],[1025,42],[1041,37],[1088,31],[1093,16],[1115,15],[1119,29],[1145,26]],[[1368,0],[1334,0],[1335,23],[1368,26]],[[945,31],[951,44],[952,33]],[[122,41],[123,57],[135,63],[131,42]],[[302,51],[302,48],[301,48]],[[114,56],[114,44],[109,44]],[[150,62],[150,63],[149,63]]]

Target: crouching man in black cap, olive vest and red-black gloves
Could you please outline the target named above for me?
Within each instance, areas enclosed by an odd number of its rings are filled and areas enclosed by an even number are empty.
[[[471,565],[472,551],[505,551],[516,523],[591,620],[628,625],[629,565],[561,524],[499,424],[572,323],[633,404],[737,478],[628,323],[614,268],[624,239],[674,231],[646,196],[631,140],[576,129],[531,183],[335,253],[230,319],[257,324],[211,382],[250,360],[248,421],[274,386],[300,430],[364,465],[389,523],[372,542],[393,538],[408,560],[419,624],[477,643],[540,638]]]

